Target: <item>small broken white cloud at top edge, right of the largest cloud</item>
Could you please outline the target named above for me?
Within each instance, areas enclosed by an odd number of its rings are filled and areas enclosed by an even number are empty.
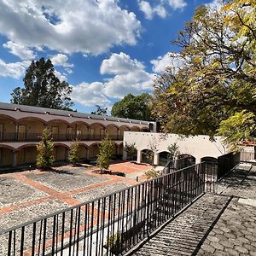
[[[184,0],[157,0],[154,5],[145,0],[138,0],[138,7],[148,20],[152,20],[154,16],[166,18],[168,9],[182,10],[186,5],[187,3]]]

